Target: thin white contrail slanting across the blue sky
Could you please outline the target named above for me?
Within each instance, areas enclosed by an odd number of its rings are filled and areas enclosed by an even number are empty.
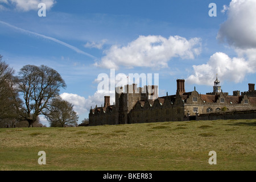
[[[71,46],[70,44],[67,44],[67,43],[65,43],[65,42],[62,42],[62,41],[60,41],[60,40],[58,40],[58,39],[51,38],[50,36],[38,34],[38,33],[36,33],[36,32],[31,32],[31,31],[29,31],[29,30],[24,30],[23,28],[15,27],[15,26],[13,26],[13,25],[11,25],[11,24],[9,24],[9,23],[3,22],[3,21],[1,21],[1,20],[0,20],[0,23],[5,24],[6,26],[9,26],[9,27],[14,28],[14,29],[16,29],[16,30],[19,30],[19,31],[28,33],[28,34],[37,35],[37,36],[40,36],[40,37],[42,37],[42,38],[52,40],[53,42],[62,44],[63,46],[66,46],[66,47],[68,47],[68,48],[73,49],[73,50],[76,51],[77,53],[81,53],[81,54],[83,54],[83,55],[92,57],[93,59],[97,59],[97,57],[95,57],[95,56],[93,56],[93,55],[90,55],[89,53],[86,53],[86,52],[84,52],[84,51],[81,51],[79,48],[77,48],[77,47],[75,47],[75,46]]]

